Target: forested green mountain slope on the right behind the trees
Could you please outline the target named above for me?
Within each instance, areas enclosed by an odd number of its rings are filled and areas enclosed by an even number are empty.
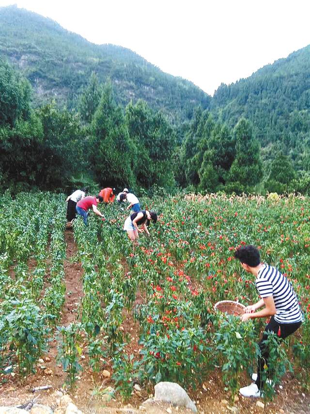
[[[263,66],[247,79],[221,84],[211,106],[216,118],[230,127],[241,116],[248,118],[265,158],[280,149],[297,169],[309,170],[310,46]]]

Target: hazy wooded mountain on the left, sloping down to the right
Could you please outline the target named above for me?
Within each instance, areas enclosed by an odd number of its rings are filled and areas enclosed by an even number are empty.
[[[146,100],[176,121],[190,117],[195,106],[206,109],[211,97],[193,83],[162,72],[137,53],[114,45],[95,45],[55,21],[19,9],[0,8],[0,54],[30,81],[34,104],[53,98],[76,107],[78,96],[94,71],[110,79],[115,99]]]

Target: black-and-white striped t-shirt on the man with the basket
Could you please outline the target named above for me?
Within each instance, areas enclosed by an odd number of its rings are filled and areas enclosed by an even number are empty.
[[[273,296],[276,306],[275,320],[279,323],[296,323],[302,320],[298,299],[292,284],[275,267],[263,265],[255,281],[262,298]]]

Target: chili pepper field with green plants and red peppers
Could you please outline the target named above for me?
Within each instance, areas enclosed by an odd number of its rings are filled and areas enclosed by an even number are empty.
[[[0,405],[51,384],[88,401],[85,412],[128,401],[139,407],[157,382],[173,381],[200,412],[227,410],[223,399],[238,412],[254,412],[255,400],[237,396],[255,371],[266,320],[242,323],[214,311],[219,300],[258,301],[252,275],[233,259],[237,247],[253,244],[263,262],[289,278],[304,312],[294,335],[280,344],[269,336],[275,386],[261,400],[267,412],[306,413],[310,199],[140,201],[158,220],[134,245],[123,231],[128,211],[117,203],[98,205],[105,221],[91,213],[87,227],[78,217],[65,230],[63,194],[1,197]]]

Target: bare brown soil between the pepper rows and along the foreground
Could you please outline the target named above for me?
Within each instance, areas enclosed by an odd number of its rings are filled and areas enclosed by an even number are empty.
[[[65,232],[65,241],[67,243],[67,257],[64,263],[65,269],[65,304],[62,314],[62,325],[67,325],[75,320],[78,320],[78,307],[83,297],[82,277],[83,270],[80,263],[72,260],[77,252],[74,242],[73,232],[67,230]],[[125,273],[126,266],[124,263]],[[13,275],[12,275],[13,276]],[[140,292],[137,293],[136,301],[132,309],[139,303],[143,303],[144,299]],[[132,311],[123,311],[124,323],[123,330],[130,337],[130,345],[128,345],[128,352],[133,354],[139,353],[139,323],[133,318]],[[53,406],[55,404],[55,396],[53,392],[57,389],[62,389],[65,382],[66,374],[62,370],[62,366],[56,361],[57,355],[57,340],[56,338],[50,343],[48,353],[43,356],[43,362],[37,365],[37,372],[27,378],[24,383],[18,382],[16,376],[0,376],[0,406],[1,405],[19,405],[31,401],[34,396],[39,395],[36,402]],[[134,410],[139,410],[140,405],[148,397],[154,395],[154,389],[150,386],[149,389],[143,388],[141,392],[135,392],[129,401],[122,401],[120,397],[105,401],[102,391],[108,387],[113,387],[114,382],[111,378],[105,378],[102,372],[98,375],[93,374],[93,371],[87,364],[87,354],[82,354],[85,359],[82,359],[83,371],[79,374],[77,381],[77,388],[75,391],[68,391],[68,394],[73,398],[74,402],[80,410],[85,413],[120,413],[122,409],[127,409],[127,413],[134,413]],[[108,370],[110,374],[111,366],[103,364],[102,370]],[[198,376],[201,373],[197,373]],[[246,380],[245,384],[246,385]],[[42,385],[52,385],[52,389],[41,391],[33,394],[31,389],[33,387]],[[182,384],[181,384],[182,385]],[[219,413],[285,413],[285,414],[310,414],[310,394],[306,393],[301,384],[296,378],[291,378],[290,374],[286,374],[282,383],[282,389],[277,389],[277,396],[274,401],[267,403],[264,410],[256,405],[257,399],[244,398],[239,396],[238,399],[232,403],[229,394],[224,391],[224,386],[221,381],[221,373],[215,370],[210,377],[196,390],[189,390],[189,396],[196,402],[199,413],[202,414],[219,414]],[[225,401],[224,401],[225,400]],[[262,399],[260,399],[262,401]],[[168,411],[167,411],[168,410]],[[153,403],[147,406],[147,413],[189,413],[188,410],[177,409],[169,405]]]

